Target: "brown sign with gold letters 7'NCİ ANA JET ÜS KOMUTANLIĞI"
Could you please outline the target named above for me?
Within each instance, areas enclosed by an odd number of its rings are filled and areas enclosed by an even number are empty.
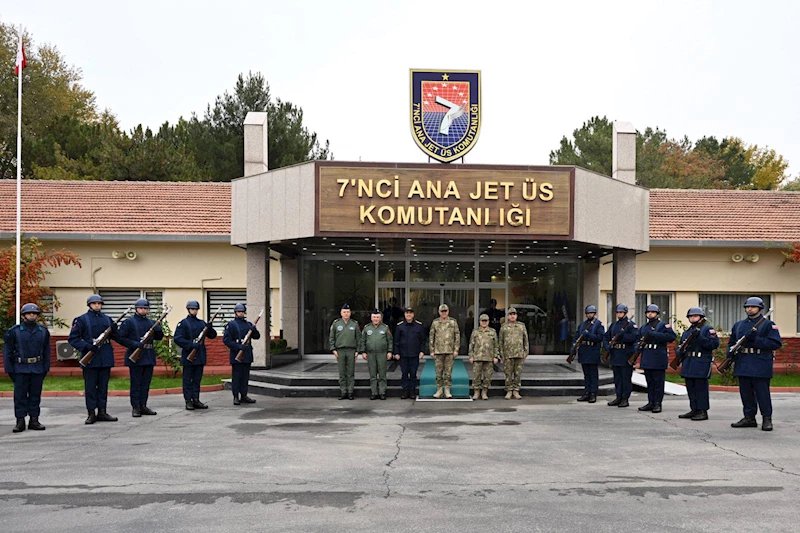
[[[319,231],[569,236],[570,169],[319,166]]]

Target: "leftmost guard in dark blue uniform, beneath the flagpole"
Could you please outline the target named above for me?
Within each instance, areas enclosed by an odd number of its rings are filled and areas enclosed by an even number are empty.
[[[22,323],[6,331],[3,341],[3,369],[14,383],[14,433],[25,431],[25,417],[30,416],[28,429],[43,430],[39,423],[42,384],[50,371],[50,332],[36,323],[39,306],[25,304],[20,309]]]

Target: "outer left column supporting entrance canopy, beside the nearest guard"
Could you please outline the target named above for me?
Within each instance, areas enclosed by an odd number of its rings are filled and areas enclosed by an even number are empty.
[[[266,244],[247,245],[247,316],[254,321],[258,312],[264,315],[258,323],[261,338],[253,341],[253,364],[269,366],[269,246]]]

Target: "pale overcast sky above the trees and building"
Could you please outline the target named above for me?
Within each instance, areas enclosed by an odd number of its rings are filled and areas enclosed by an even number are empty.
[[[3,4],[0,19],[58,46],[126,129],[202,114],[260,71],[337,160],[427,161],[410,132],[409,69],[479,69],[467,163],[547,164],[563,135],[607,115],[768,145],[800,174],[798,2]]]

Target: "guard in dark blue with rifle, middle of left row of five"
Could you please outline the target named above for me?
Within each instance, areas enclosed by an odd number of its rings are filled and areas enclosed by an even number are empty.
[[[150,302],[145,298],[136,300],[136,312],[132,317],[125,319],[119,327],[119,343],[125,350],[125,366],[128,367],[131,375],[131,409],[132,416],[139,418],[142,415],[154,415],[155,411],[147,407],[147,398],[150,396],[150,382],[153,380],[153,369],[156,366],[156,350],[153,347],[154,341],[164,338],[164,331],[158,325],[153,330],[153,337],[147,344],[141,341],[155,320],[147,316],[150,312]],[[137,348],[142,349],[139,360],[135,363],[129,356]]]

